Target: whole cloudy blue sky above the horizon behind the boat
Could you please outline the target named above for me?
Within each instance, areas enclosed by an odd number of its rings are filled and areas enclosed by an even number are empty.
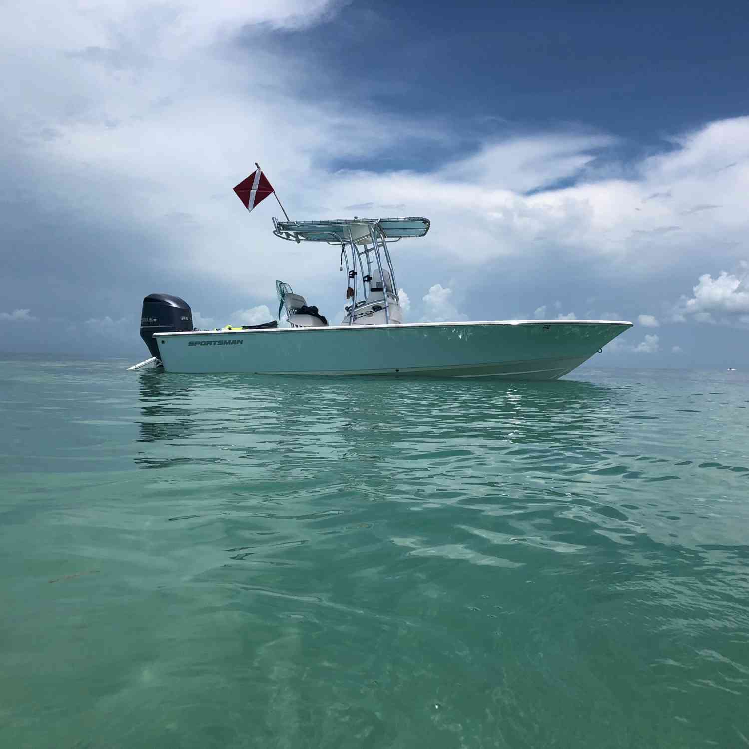
[[[0,5],[0,351],[145,356],[201,327],[331,320],[293,219],[427,216],[408,321],[624,319],[599,366],[749,366],[749,4],[25,0]]]

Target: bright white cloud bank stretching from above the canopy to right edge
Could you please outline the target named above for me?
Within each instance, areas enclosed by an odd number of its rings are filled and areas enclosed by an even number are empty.
[[[574,163],[564,174],[574,184],[548,187],[563,170],[554,162],[543,172],[544,157],[554,161],[562,144],[574,145]],[[749,181],[749,117],[709,124],[674,139],[669,153],[622,169],[580,171],[580,163],[589,163],[603,147],[595,136],[569,139],[565,133],[510,139],[480,154],[491,162],[496,154],[530,148],[538,158],[529,182],[502,178],[498,157],[496,165],[480,165],[470,156],[435,172],[339,175],[330,202],[348,203],[356,194],[373,205],[392,200],[424,206],[432,219],[429,246],[456,264],[539,257],[553,249],[560,267],[563,258],[586,258],[595,273],[616,269],[629,277],[657,272],[670,278],[704,252],[708,237],[718,237],[712,240],[715,251],[735,256],[749,230],[741,198]],[[718,151],[718,163],[729,168],[716,166]],[[528,192],[531,182],[535,187]]]

